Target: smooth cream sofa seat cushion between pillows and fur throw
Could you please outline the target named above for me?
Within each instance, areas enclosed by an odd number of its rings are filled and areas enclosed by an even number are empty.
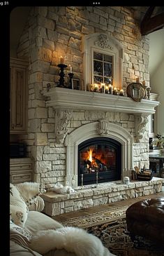
[[[33,210],[28,213],[27,222],[24,226],[24,228],[31,232],[31,234],[36,234],[37,231],[47,229],[59,229],[60,227],[63,227],[63,225],[56,220]]]

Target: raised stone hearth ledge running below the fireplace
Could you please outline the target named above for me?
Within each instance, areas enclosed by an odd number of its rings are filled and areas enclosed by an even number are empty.
[[[50,216],[70,213],[74,210],[100,206],[121,200],[149,196],[162,191],[164,179],[153,177],[151,181],[133,181],[130,184],[107,182],[94,187],[84,187],[73,194],[56,194],[49,191],[41,195],[45,201],[44,213]]]

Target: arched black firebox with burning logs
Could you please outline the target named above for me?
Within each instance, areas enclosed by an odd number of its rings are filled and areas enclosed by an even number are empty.
[[[78,186],[121,180],[121,144],[94,137],[78,146]]]

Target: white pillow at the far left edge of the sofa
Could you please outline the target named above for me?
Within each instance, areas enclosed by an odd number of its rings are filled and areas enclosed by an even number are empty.
[[[20,195],[17,188],[10,183],[10,218],[15,224],[24,227],[27,221],[27,213],[29,209]]]

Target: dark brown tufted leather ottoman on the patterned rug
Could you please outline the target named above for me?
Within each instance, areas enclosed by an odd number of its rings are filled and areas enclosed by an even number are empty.
[[[149,198],[133,203],[126,210],[127,229],[131,236],[143,236],[164,244],[164,198]]]

